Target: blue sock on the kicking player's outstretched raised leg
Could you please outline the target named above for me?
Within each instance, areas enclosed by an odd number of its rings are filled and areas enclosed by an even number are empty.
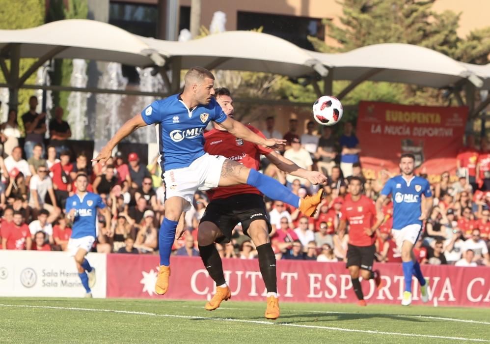
[[[265,174],[250,170],[246,183],[255,186],[261,193],[269,197],[271,200],[283,201],[294,207],[299,206],[299,197],[293,194],[287,187],[279,183],[274,178]]]

